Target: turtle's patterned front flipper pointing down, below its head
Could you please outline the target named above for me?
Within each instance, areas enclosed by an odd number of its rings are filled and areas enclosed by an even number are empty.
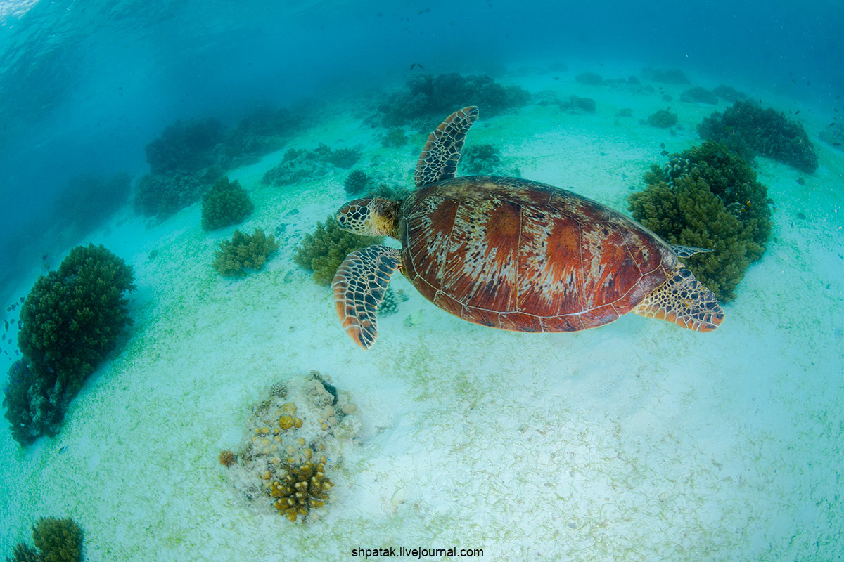
[[[381,244],[355,250],[337,270],[331,288],[340,324],[354,343],[368,350],[378,337],[376,312],[401,260],[398,249]]]

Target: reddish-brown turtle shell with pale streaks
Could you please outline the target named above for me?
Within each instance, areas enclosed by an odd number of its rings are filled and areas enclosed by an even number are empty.
[[[403,272],[431,302],[475,324],[570,332],[612,322],[677,267],[654,233],[571,191],[468,176],[403,202]]]

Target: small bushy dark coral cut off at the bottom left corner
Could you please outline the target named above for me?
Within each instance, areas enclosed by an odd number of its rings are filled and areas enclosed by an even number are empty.
[[[82,529],[70,517],[41,517],[32,526],[35,549],[24,543],[14,547],[14,556],[7,562],[80,562]]]

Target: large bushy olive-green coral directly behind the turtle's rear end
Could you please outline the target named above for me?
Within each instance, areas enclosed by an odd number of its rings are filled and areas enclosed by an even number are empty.
[[[718,300],[733,300],[771,235],[767,188],[754,169],[709,141],[671,155],[664,168],[654,164],[644,179],[628,199],[633,217],[669,244],[711,249],[684,263]]]

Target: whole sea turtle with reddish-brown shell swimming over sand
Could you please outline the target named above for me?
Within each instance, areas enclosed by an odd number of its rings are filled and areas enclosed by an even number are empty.
[[[715,295],[679,262],[711,250],[673,246],[638,222],[568,190],[498,176],[455,178],[477,107],[430,133],[404,201],[349,201],[341,228],[396,238],[350,253],[332,283],[355,343],[375,343],[376,309],[395,270],[464,320],[520,332],[573,332],[630,311],[687,329],[717,329]]]

